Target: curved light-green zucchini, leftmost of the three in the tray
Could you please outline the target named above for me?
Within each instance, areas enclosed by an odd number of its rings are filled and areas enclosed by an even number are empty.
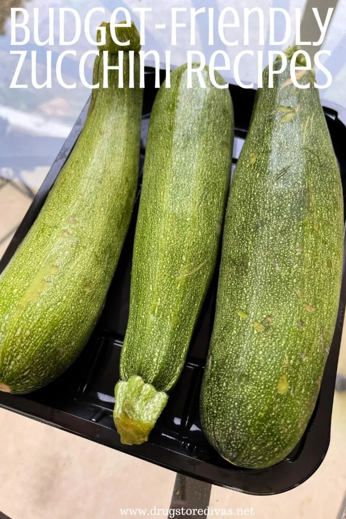
[[[125,28],[124,28],[125,29]],[[126,38],[129,29],[117,29]],[[139,37],[132,26],[132,37]],[[135,44],[137,45],[137,43]],[[118,64],[109,53],[108,65]],[[128,88],[96,58],[85,126],[34,225],[0,277],[0,389],[26,393],[76,359],[103,308],[132,214],[137,186],[143,90],[139,54]]]

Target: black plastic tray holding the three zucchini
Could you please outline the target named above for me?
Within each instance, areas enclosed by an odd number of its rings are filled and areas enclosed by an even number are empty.
[[[150,111],[157,92],[154,83],[153,72],[147,71],[143,107],[141,170]],[[234,168],[250,122],[255,92],[237,86],[230,86],[230,91],[236,121],[232,165]],[[51,186],[76,142],[84,124],[87,107],[88,105],[76,122],[71,135],[66,140],[4,254],[0,262],[0,271],[9,262],[43,206]],[[345,194],[346,128],[335,112],[330,110],[325,112],[339,160]],[[329,445],[331,410],[346,299],[345,275],[343,275],[342,281],[336,330],[319,399],[302,440],[285,460],[268,469],[250,470],[234,467],[215,452],[201,431],[199,392],[213,326],[216,274],[193,335],[182,376],[172,392],[157,426],[151,433],[149,441],[143,445],[121,445],[113,424],[112,412],[114,386],[118,380],[120,350],[129,311],[131,255],[138,199],[139,197],[137,197],[131,227],[104,311],[85,350],[64,375],[46,388],[24,396],[0,392],[0,406],[157,463],[157,465],[247,494],[278,494],[300,485],[320,466]]]

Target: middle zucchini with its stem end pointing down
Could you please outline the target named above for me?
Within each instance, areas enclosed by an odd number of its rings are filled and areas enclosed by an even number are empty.
[[[121,442],[148,439],[184,366],[215,267],[229,188],[233,108],[207,70],[157,94],[136,226],[130,315],[115,388]],[[223,83],[218,75],[218,81]]]

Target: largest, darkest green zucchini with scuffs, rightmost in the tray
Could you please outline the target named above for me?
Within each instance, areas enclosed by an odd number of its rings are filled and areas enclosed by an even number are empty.
[[[313,71],[257,92],[231,183],[201,423],[234,465],[265,468],[312,415],[341,284],[343,199]],[[279,70],[281,61],[274,64]]]

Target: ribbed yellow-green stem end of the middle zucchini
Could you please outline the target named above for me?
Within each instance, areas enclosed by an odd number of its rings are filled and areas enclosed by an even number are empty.
[[[121,443],[139,445],[146,442],[167,400],[166,393],[145,384],[138,375],[133,375],[127,382],[120,380],[115,386],[113,418]]]

